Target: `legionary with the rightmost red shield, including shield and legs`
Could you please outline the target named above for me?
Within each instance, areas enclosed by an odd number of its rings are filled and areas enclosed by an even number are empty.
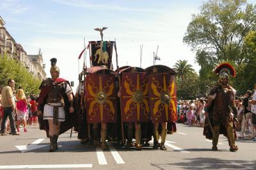
[[[166,150],[164,143],[167,128],[176,129],[177,121],[177,101],[175,89],[176,72],[164,65],[154,65],[145,69],[148,73],[148,101],[150,107],[151,121],[154,124],[154,147],[160,146],[161,150]],[[172,126],[167,126],[167,123]],[[159,127],[161,125],[161,127]],[[170,129],[171,130],[171,129]],[[161,143],[159,144],[159,131],[161,133]]]

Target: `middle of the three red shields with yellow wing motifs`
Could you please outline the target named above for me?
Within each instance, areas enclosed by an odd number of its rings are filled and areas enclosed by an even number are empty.
[[[121,112],[124,122],[148,122],[148,86],[145,72],[123,72]]]

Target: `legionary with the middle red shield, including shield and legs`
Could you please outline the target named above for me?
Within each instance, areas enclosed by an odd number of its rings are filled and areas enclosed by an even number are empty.
[[[147,75],[143,68],[127,67],[120,70],[120,97],[122,122],[127,124],[127,148],[133,147],[133,128],[135,127],[136,150],[141,150],[141,123],[150,121],[148,107]],[[147,133],[147,128],[145,128]]]

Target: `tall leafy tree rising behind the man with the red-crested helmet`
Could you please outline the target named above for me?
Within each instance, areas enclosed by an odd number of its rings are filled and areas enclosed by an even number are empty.
[[[253,61],[248,58],[252,51],[248,51],[245,38],[253,30],[256,30],[256,6],[246,0],[209,0],[202,4],[183,38],[196,52],[196,62],[201,66],[200,84],[212,84],[216,79],[212,74],[214,66],[227,61],[237,70],[235,88],[243,91],[244,86],[238,84],[244,79],[241,78],[246,63]]]

